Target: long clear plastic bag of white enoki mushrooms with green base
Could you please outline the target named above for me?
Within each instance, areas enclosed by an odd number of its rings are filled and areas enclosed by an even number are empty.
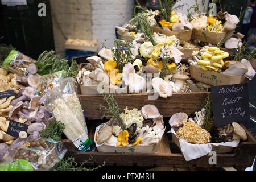
[[[57,121],[64,123],[63,133],[72,140],[78,151],[94,151],[95,144],[88,136],[84,113],[76,96],[77,84],[74,78],[59,80],[59,87],[44,94],[42,100],[47,110]]]

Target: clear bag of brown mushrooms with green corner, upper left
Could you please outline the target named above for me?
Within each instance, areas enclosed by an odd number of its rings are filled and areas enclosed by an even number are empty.
[[[27,75],[27,67],[31,63],[35,63],[36,60],[24,55],[19,51],[11,51],[9,56],[3,61],[3,67],[11,73],[20,73]]]

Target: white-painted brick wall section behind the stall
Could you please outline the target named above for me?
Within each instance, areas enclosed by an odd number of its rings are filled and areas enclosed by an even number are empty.
[[[131,19],[134,1],[91,0],[91,3],[93,39],[98,39],[99,43],[104,43],[106,47],[112,47],[115,26],[122,25]]]

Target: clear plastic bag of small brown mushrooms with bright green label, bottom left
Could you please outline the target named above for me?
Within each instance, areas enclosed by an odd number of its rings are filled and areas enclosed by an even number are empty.
[[[9,158],[13,160],[1,163],[0,171],[48,171],[66,152],[61,141],[31,135],[9,147]]]

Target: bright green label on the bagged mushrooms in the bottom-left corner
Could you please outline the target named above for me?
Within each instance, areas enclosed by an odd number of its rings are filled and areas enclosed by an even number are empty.
[[[33,168],[27,160],[19,159],[14,163],[4,162],[0,164],[0,171],[33,171]]]

